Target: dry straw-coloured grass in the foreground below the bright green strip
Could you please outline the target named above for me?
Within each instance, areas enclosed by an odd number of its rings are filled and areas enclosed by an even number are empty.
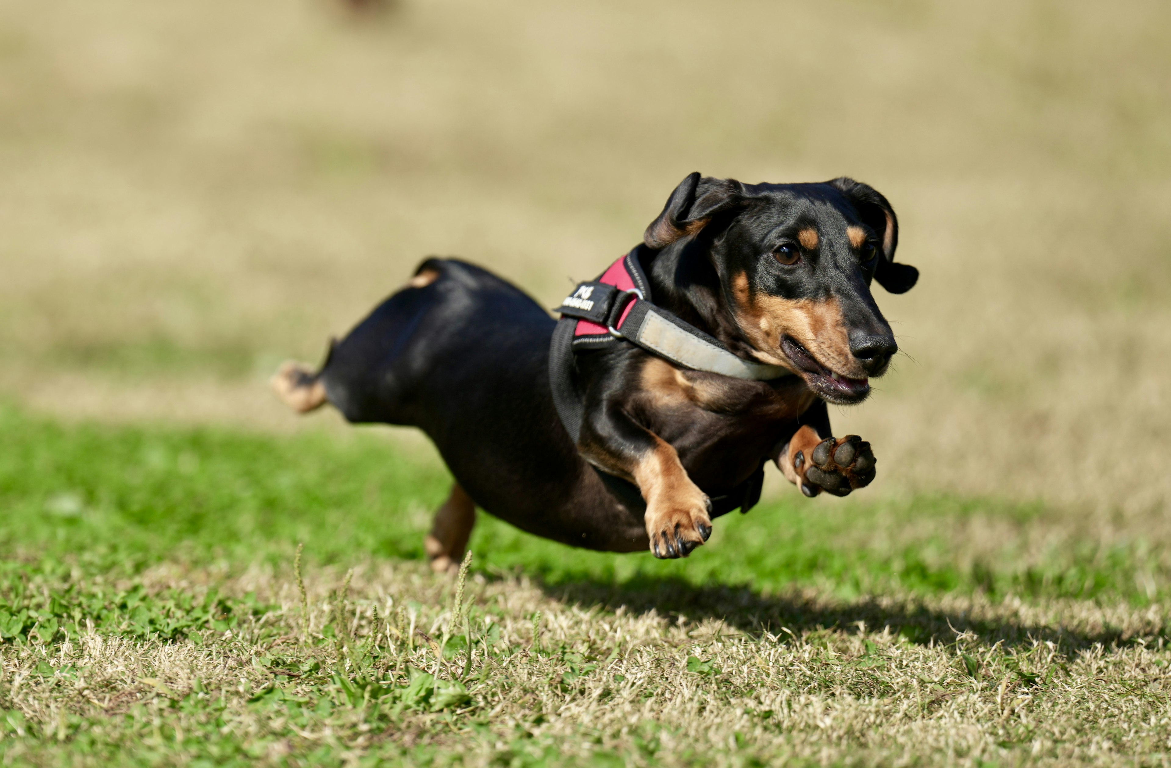
[[[7,651],[0,699],[46,733],[41,742],[9,746],[8,759],[49,762],[57,754],[54,724],[66,733],[73,715],[90,719],[91,739],[131,748],[142,738],[139,757],[179,764],[205,754],[189,736],[207,727],[217,706],[226,706],[217,739],[269,763],[320,747],[331,750],[329,762],[402,759],[403,749],[430,747],[466,766],[583,764],[596,753],[635,766],[1162,764],[1171,748],[1169,653],[1155,637],[1162,604],[897,596],[851,603],[812,591],[746,601],[724,590],[692,596],[693,615],[660,615],[623,608],[621,592],[547,594],[523,578],[480,576],[466,592],[473,635],[497,629],[491,645],[478,640],[464,677],[471,698],[446,714],[399,707],[388,715],[389,704],[382,714],[369,698],[347,705],[324,681],[330,668],[356,674],[356,667],[341,644],[300,642],[301,598],[290,574],[224,577],[165,567],[141,583],[152,591],[217,584],[254,592],[273,610],[228,633],[204,632],[200,642],[83,633],[52,649],[30,643]],[[370,564],[357,571],[344,608],[341,582],[340,572],[307,575],[310,638],[330,620],[348,624],[355,643],[377,633],[374,666],[397,685],[411,666],[461,677],[464,657],[441,660],[434,644],[452,622],[451,580],[422,563]],[[375,624],[375,608],[398,618]],[[845,617],[850,625],[835,626]],[[904,628],[918,631],[922,644],[905,642]],[[314,660],[322,672],[297,672]],[[66,672],[46,674],[42,664]],[[282,670],[295,676],[276,678],[282,695],[307,700],[301,706],[315,713],[308,720],[296,705],[260,697]],[[326,711],[314,702],[328,690],[334,707]],[[103,713],[111,715],[104,726]],[[84,762],[76,743],[62,754]]]

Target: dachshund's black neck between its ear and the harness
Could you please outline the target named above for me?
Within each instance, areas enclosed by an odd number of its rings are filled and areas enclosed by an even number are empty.
[[[712,244],[705,238],[684,238],[643,258],[656,304],[680,320],[711,334],[742,357],[752,348],[740,334],[720,287],[711,259]]]

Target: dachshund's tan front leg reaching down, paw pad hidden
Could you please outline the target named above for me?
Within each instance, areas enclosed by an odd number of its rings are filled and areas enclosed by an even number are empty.
[[[712,535],[711,501],[673,447],[636,423],[618,403],[590,411],[578,441],[582,455],[638,486],[646,501],[646,536],[656,557],[686,557]]]

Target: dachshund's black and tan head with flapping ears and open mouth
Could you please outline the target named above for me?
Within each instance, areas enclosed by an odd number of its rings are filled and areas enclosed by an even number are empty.
[[[882,194],[849,178],[740,184],[692,173],[646,228],[651,248],[701,242],[719,303],[760,361],[799,373],[830,403],[861,403],[898,351],[871,280],[910,290],[895,262],[898,220]]]

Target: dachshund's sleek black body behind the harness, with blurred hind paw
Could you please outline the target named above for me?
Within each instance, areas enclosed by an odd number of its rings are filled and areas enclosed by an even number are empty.
[[[642,549],[641,512],[616,502],[557,418],[548,377],[554,325],[500,277],[430,259],[330,349],[319,372],[286,368],[274,385],[299,411],[328,402],[352,423],[422,428],[460,489],[448,517],[468,517],[474,500],[541,536]]]

